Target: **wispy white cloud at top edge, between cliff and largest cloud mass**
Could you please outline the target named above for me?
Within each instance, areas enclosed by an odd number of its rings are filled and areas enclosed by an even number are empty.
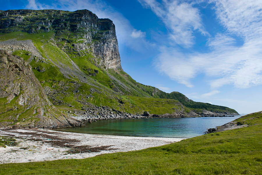
[[[180,1],[166,1],[162,4],[155,0],[139,0],[144,7],[151,10],[165,23],[170,30],[170,39],[183,47],[194,44],[194,31],[209,35],[204,29],[200,12],[192,4]]]

